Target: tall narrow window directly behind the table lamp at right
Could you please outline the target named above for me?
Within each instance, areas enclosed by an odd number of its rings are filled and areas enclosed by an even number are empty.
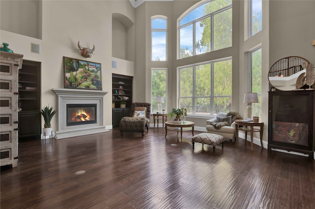
[[[252,116],[261,118],[261,47],[249,52],[249,92],[258,94],[258,103],[252,104]]]

